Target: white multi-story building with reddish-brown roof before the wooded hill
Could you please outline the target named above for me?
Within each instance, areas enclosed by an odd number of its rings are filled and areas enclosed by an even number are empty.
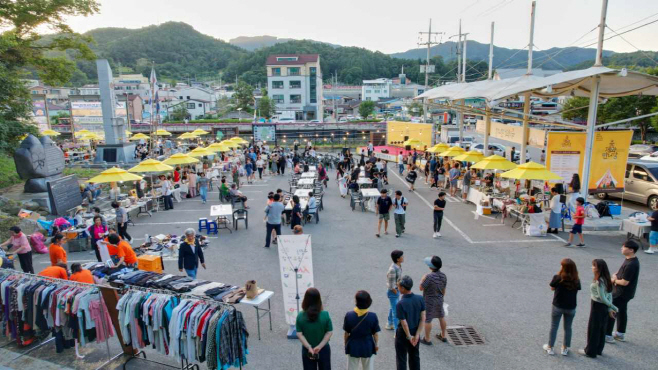
[[[322,122],[320,55],[270,55],[267,58],[267,91],[279,117]]]

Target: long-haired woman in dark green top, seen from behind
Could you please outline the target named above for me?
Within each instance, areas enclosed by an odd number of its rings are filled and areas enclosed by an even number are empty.
[[[295,329],[302,342],[302,366],[304,370],[331,370],[329,339],[333,325],[329,312],[322,307],[322,297],[315,288],[308,288],[302,301],[302,312],[297,314]]]

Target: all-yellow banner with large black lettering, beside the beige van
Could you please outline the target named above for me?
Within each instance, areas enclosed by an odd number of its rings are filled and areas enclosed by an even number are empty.
[[[587,186],[590,193],[624,191],[626,162],[632,137],[633,131],[597,131],[594,134]]]

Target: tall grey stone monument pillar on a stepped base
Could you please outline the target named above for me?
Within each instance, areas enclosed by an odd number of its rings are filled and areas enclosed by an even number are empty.
[[[105,144],[96,147],[94,163],[135,162],[135,144],[126,140],[128,125],[123,118],[117,118],[116,116],[116,96],[112,86],[110,64],[105,59],[97,59],[96,69],[98,70],[98,87],[101,93]]]

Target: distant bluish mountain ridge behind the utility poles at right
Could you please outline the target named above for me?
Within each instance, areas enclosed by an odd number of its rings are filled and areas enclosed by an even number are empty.
[[[603,56],[613,55],[614,52],[604,50]],[[425,59],[427,49],[411,49],[401,53],[391,54],[394,58],[402,59]],[[453,41],[445,42],[433,46],[430,49],[430,56],[440,56],[446,61],[454,60],[457,56],[457,43]],[[594,60],[596,49],[592,48],[551,48],[548,50],[533,51],[533,67],[541,65],[543,69],[566,69],[569,66],[582,63],[588,60]],[[466,57],[469,60],[489,61],[489,44],[482,44],[477,41],[467,41]],[[494,45],[494,66],[503,68],[525,68],[528,63],[528,52],[519,49],[508,49]]]

